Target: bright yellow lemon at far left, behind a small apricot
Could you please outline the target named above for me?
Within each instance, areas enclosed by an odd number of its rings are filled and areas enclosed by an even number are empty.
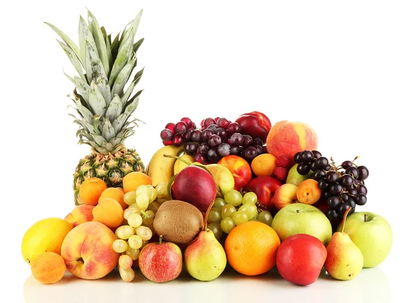
[[[60,218],[46,218],[37,221],[29,228],[21,241],[21,255],[31,264],[42,252],[56,252],[60,255],[62,241],[69,230],[71,223]]]

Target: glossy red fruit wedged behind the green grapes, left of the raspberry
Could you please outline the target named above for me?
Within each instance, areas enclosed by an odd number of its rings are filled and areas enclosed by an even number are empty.
[[[257,176],[248,183],[246,189],[255,192],[257,199],[267,210],[275,211],[276,207],[272,202],[272,196],[280,185],[282,185],[281,181],[272,176]]]

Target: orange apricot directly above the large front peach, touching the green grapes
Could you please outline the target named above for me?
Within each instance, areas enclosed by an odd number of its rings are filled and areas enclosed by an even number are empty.
[[[103,223],[107,228],[118,228],[123,223],[123,208],[112,198],[102,199],[92,210],[92,221]]]

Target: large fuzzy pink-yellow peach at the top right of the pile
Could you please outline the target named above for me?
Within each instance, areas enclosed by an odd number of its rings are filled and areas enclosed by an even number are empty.
[[[281,155],[288,156],[291,165],[294,165],[293,157],[297,152],[318,148],[318,136],[306,123],[282,120],[276,122],[270,129],[266,138],[266,147],[267,152],[276,158]]]

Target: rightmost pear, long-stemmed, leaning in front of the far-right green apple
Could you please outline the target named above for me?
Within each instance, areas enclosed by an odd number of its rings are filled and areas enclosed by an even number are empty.
[[[349,210],[351,208],[344,214],[343,226],[340,232],[335,232],[331,241],[329,241],[327,260],[324,263],[324,268],[329,275],[339,280],[353,279],[361,273],[364,265],[363,253],[360,248],[344,232],[345,219]]]

